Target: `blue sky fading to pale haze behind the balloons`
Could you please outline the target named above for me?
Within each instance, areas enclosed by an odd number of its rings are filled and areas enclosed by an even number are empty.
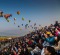
[[[29,25],[37,23],[37,25],[46,26],[54,24],[57,20],[60,22],[60,0],[0,0],[0,10],[3,14],[12,14],[7,22],[4,17],[0,17],[0,35],[22,36],[27,34],[29,30],[18,28],[18,25]],[[17,15],[20,11],[20,15]],[[24,17],[24,21],[22,21]],[[14,24],[16,18],[16,24]]]

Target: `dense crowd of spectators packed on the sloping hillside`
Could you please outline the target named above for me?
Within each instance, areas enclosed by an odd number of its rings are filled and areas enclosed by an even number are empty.
[[[8,42],[0,55],[60,55],[60,23],[56,21]]]

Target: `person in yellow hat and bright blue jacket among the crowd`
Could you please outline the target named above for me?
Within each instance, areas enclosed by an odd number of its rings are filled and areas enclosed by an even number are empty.
[[[48,32],[45,34],[45,41],[48,42],[51,46],[54,45],[55,39],[56,37],[52,33]]]

